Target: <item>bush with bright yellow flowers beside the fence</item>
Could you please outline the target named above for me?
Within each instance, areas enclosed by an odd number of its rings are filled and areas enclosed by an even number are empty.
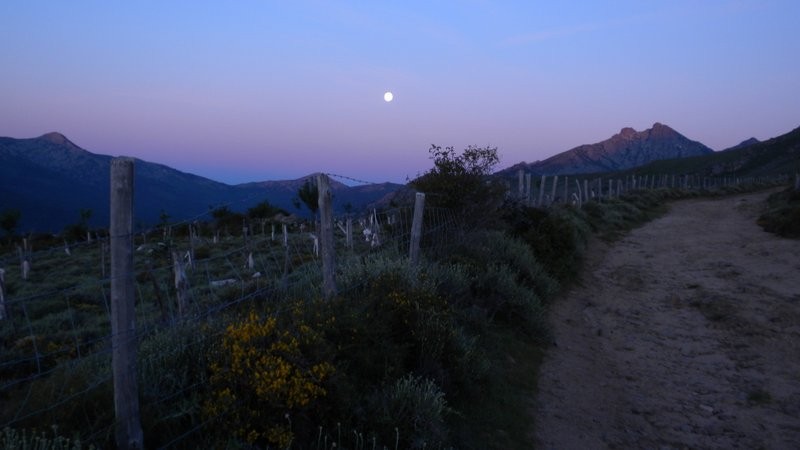
[[[250,444],[287,448],[292,415],[327,394],[324,382],[334,372],[331,363],[307,355],[319,339],[306,324],[255,312],[228,325],[210,365],[212,394],[204,413]]]

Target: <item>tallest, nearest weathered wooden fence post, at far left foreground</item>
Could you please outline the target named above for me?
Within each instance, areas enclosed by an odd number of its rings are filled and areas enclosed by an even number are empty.
[[[116,441],[144,448],[136,385],[136,314],[133,285],[133,159],[111,161],[111,361]]]

